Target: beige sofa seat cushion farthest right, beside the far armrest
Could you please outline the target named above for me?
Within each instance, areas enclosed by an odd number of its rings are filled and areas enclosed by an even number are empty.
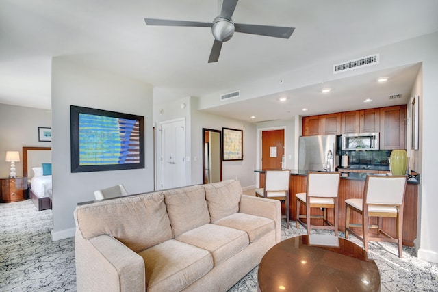
[[[245,231],[248,233],[250,243],[257,241],[275,228],[274,220],[245,213],[234,213],[217,220],[214,224]]]

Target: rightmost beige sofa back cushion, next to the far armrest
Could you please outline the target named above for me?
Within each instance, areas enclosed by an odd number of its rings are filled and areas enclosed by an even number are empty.
[[[239,211],[242,187],[239,181],[229,180],[204,185],[211,223]]]

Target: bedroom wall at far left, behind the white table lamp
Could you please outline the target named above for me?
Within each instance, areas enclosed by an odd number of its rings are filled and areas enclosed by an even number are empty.
[[[6,151],[20,152],[20,162],[15,163],[15,168],[17,176],[23,176],[23,146],[52,146],[51,142],[38,142],[38,127],[52,127],[49,109],[0,104],[0,177],[9,176]]]

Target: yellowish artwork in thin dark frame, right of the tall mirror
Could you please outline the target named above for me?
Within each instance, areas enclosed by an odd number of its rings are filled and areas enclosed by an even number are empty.
[[[222,128],[222,160],[243,160],[244,131]]]

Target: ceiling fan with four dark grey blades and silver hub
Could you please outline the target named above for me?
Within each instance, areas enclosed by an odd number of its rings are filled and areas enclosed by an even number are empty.
[[[227,42],[234,32],[245,34],[258,34],[261,36],[273,36],[275,38],[290,38],[294,32],[294,27],[275,27],[268,25],[246,25],[234,23],[233,16],[238,0],[224,0],[220,15],[214,18],[212,23],[201,23],[197,21],[170,21],[164,19],[144,18],[146,25],[165,25],[177,27],[211,27],[214,36],[213,47],[211,48],[209,63],[218,62],[222,43]]]

